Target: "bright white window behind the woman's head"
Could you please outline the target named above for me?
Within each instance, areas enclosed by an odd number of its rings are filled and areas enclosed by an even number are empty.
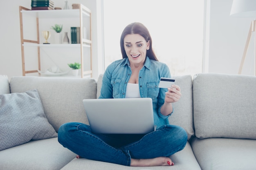
[[[171,75],[202,72],[203,0],[103,0],[105,69],[121,59],[120,36],[132,22],[144,24],[157,59]]]

